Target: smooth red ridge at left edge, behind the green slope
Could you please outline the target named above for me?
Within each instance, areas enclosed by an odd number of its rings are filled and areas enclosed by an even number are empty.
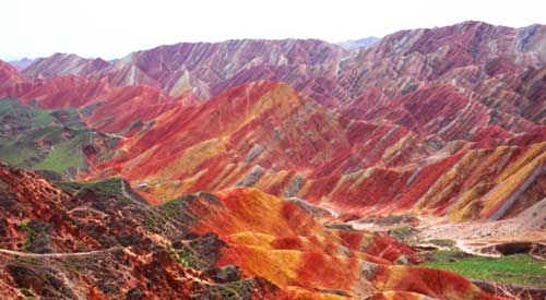
[[[153,86],[118,86],[105,76],[35,79],[2,65],[0,97],[16,98],[39,109],[76,108],[88,127],[107,133],[131,134],[169,109],[199,103],[192,94],[171,97]]]

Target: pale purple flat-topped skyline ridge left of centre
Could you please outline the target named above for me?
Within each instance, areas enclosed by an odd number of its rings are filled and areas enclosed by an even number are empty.
[[[133,52],[112,69],[143,74],[170,95],[191,91],[207,98],[256,80],[295,84],[310,72],[333,72],[333,63],[345,55],[343,49],[316,39],[182,43]],[[124,82],[140,83],[133,77]]]

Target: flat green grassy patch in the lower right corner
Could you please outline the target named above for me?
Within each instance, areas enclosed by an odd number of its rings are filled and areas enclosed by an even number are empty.
[[[448,269],[465,277],[501,284],[546,288],[546,263],[527,254],[500,259],[482,256],[454,257],[456,252],[438,251],[423,266]]]

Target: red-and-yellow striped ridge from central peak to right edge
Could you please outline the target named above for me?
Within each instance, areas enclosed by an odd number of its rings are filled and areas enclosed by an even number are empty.
[[[415,118],[392,108],[378,110],[392,112],[381,121],[367,122],[329,111],[286,85],[253,83],[167,113],[124,141],[102,168],[146,187],[155,201],[251,185],[356,215],[415,208],[464,220],[513,216],[542,200],[544,135],[502,130],[491,141],[477,132],[487,128],[486,108],[442,104],[470,103],[449,86],[416,93],[402,99],[415,101],[405,110]],[[431,121],[435,115],[446,124]]]

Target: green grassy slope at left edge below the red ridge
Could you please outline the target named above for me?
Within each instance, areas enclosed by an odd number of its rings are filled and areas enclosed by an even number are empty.
[[[61,113],[62,122],[56,117]],[[86,168],[81,149],[92,142],[95,132],[85,128],[74,109],[40,110],[16,99],[0,99],[0,124],[3,129],[0,160],[20,168],[59,173]],[[39,140],[46,141],[47,146],[39,148]]]

